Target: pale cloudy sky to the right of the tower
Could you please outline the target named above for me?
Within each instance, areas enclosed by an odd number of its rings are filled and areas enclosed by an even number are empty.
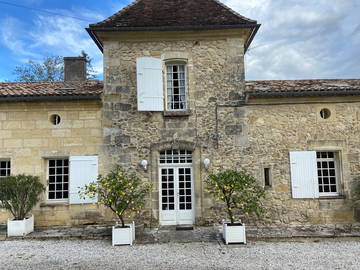
[[[262,26],[247,79],[359,77],[358,0],[222,0]]]

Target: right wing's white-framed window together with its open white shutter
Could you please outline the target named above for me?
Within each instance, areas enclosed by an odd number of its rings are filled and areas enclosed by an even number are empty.
[[[290,152],[290,169],[293,198],[319,198],[340,194],[338,152]]]

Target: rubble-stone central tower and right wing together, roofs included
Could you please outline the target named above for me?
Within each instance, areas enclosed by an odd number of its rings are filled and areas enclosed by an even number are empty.
[[[153,184],[147,215],[161,225],[220,221],[204,180],[209,170],[225,167],[251,171],[267,189],[267,214],[247,223],[354,222],[359,81],[245,85],[244,53],[256,21],[220,20],[210,27],[194,15],[189,26],[179,24],[187,19],[179,12],[171,14],[179,20],[169,23],[155,2],[136,1],[88,29],[104,53],[104,158],[136,169]],[[201,2],[206,9],[216,1]],[[153,20],[139,25],[147,13]],[[142,85],[151,92],[157,80],[160,90],[146,101]],[[151,109],[142,108],[142,99]],[[142,160],[149,163],[145,171]]]

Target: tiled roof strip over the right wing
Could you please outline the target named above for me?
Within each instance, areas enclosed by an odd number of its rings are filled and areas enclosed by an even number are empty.
[[[359,95],[360,79],[246,81],[250,97]]]

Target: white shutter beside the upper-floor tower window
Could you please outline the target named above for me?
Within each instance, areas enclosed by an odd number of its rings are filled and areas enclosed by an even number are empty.
[[[164,88],[161,59],[141,57],[136,60],[139,111],[163,111]]]

